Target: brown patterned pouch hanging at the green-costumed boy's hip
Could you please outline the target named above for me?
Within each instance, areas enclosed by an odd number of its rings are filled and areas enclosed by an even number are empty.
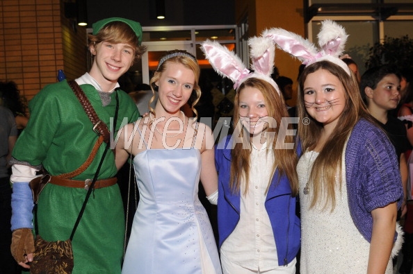
[[[35,253],[30,264],[31,274],[70,274],[73,271],[72,241],[35,239]]]

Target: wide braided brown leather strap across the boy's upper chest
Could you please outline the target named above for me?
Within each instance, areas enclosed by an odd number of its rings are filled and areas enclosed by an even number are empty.
[[[81,87],[76,83],[75,80],[70,80],[67,81],[67,83],[70,85],[72,88],[74,94],[76,95],[77,99],[79,99],[79,102],[81,103],[83,109],[85,110],[86,114],[88,115],[90,121],[92,122],[93,125],[93,130],[97,133],[97,135],[102,135],[104,137],[104,142],[108,144],[109,142],[109,137],[110,133],[108,130],[108,127],[106,126],[106,123],[99,119],[97,116],[95,110],[93,109],[92,105],[90,104],[90,101],[86,94],[83,92]]]

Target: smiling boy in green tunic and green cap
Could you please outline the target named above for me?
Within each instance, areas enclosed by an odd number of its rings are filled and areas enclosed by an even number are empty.
[[[130,96],[118,90],[118,78],[145,53],[138,22],[113,17],[93,24],[89,36],[94,61],[89,73],[76,79],[100,120],[111,128],[118,97],[119,110],[114,136],[122,120],[140,116]],[[38,199],[38,233],[46,241],[70,237],[86,190],[79,182],[92,179],[106,144],[99,146],[94,160],[65,185],[54,176],[70,173],[86,161],[98,135],[81,103],[66,80],[47,85],[30,102],[31,118],[13,150],[12,254],[24,268],[33,261],[32,209],[29,182],[42,167],[52,176]],[[113,118],[112,118],[113,119]],[[113,124],[113,122],[112,122]],[[115,155],[106,153],[95,189],[72,240],[72,273],[120,273],[124,243],[124,212],[114,178]],[[110,181],[111,183],[104,183]],[[101,183],[99,183],[101,182]]]

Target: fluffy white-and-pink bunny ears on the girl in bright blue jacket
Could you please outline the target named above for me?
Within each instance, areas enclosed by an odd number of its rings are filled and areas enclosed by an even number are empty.
[[[206,59],[209,60],[213,69],[220,76],[232,80],[234,89],[237,89],[248,78],[259,78],[273,85],[278,94],[280,94],[280,89],[273,78],[271,78],[275,57],[273,41],[264,37],[252,37],[248,40],[248,44],[250,45],[252,60],[251,67],[254,71],[247,69],[233,51],[229,51],[226,46],[222,46],[218,42],[206,40],[202,42],[201,49],[204,51]]]

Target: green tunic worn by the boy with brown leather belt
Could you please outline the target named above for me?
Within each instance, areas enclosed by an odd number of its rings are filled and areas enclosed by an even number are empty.
[[[81,85],[99,118],[110,128],[115,114],[115,92],[111,103],[102,106],[92,85]],[[128,94],[118,91],[117,130],[121,124],[136,121],[138,109]],[[13,157],[33,166],[42,164],[51,175],[77,169],[90,154],[97,141],[92,123],[66,81],[47,85],[30,102],[31,117],[17,140]],[[115,133],[116,133],[115,132]],[[102,158],[105,144],[95,160],[75,180],[92,179]],[[99,179],[117,173],[113,151],[108,151]],[[70,237],[79,214],[85,189],[48,184],[38,201],[39,234],[47,241]],[[124,211],[118,185],[95,189],[72,241],[73,273],[120,273],[124,244]]]

